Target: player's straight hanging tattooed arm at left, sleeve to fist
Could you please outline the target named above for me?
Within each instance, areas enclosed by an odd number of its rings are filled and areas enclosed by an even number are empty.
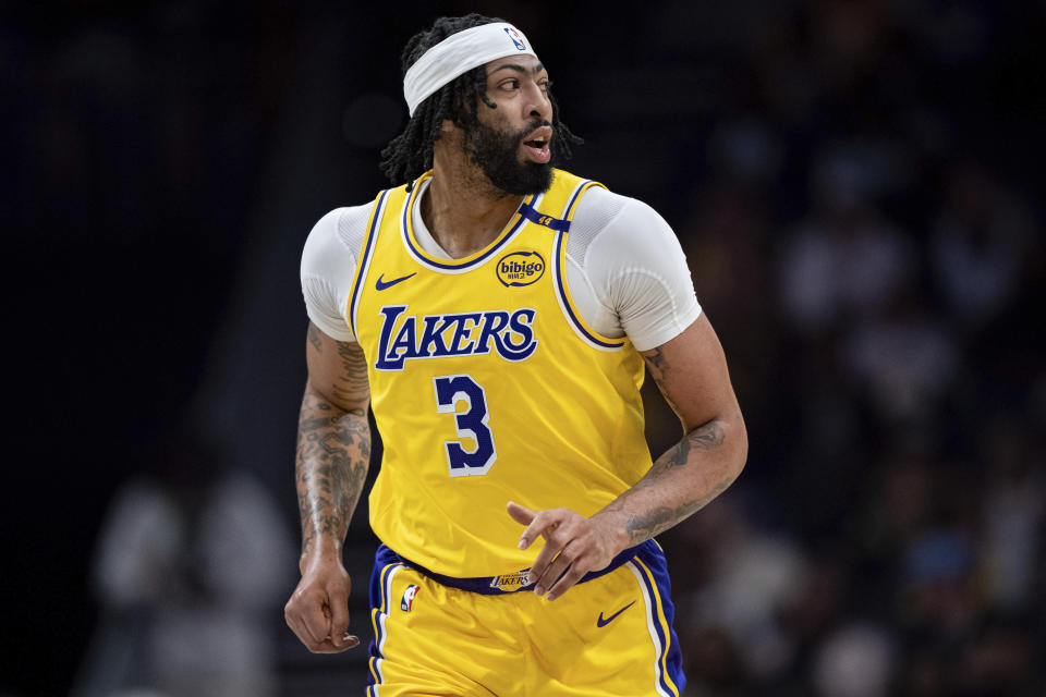
[[[308,380],[297,423],[297,506],[302,580],[283,609],[294,634],[314,653],[360,644],[348,634],[351,582],[341,547],[367,476],[370,390],[363,351],[308,325]]]

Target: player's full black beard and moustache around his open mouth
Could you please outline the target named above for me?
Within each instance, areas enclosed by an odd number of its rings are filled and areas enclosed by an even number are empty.
[[[465,139],[469,158],[483,170],[490,183],[506,194],[530,196],[548,191],[552,183],[552,162],[521,162],[520,146],[527,135],[540,126],[551,125],[539,121],[518,132],[498,131],[483,123]],[[549,143],[549,147],[552,144]],[[555,156],[555,150],[552,151]]]

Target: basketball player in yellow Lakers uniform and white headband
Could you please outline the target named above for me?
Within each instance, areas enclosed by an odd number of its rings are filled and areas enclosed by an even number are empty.
[[[315,652],[358,644],[341,545],[369,404],[385,456],[368,694],[678,696],[653,538],[747,448],[679,243],[646,205],[554,169],[580,140],[514,26],[440,19],[403,62],[411,120],[382,152],[397,187],[305,244],[287,622]],[[644,360],[685,430],[656,462]]]

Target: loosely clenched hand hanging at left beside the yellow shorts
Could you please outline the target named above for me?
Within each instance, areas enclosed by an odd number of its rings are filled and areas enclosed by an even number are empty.
[[[360,638],[349,634],[351,588],[341,560],[303,563],[302,579],[283,608],[283,617],[313,653],[340,653],[360,646]]]

